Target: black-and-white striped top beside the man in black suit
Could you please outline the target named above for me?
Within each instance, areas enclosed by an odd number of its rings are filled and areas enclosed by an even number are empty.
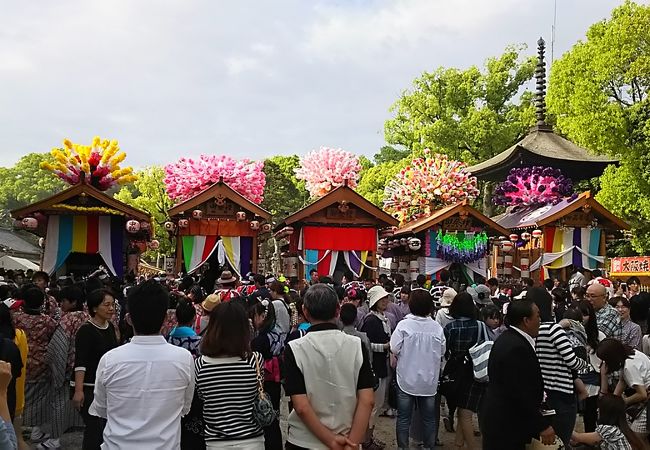
[[[564,329],[553,322],[544,322],[539,327],[535,340],[535,352],[547,391],[573,394],[572,370],[581,370],[587,362],[576,356]]]

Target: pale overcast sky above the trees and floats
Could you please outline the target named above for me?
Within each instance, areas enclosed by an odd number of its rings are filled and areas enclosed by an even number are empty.
[[[556,58],[621,0],[558,0]],[[63,138],[135,167],[321,145],[372,155],[389,107],[438,66],[530,54],[553,0],[0,0],[0,166]]]

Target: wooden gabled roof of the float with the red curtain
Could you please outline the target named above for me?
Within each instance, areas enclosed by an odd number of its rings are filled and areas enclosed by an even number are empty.
[[[325,211],[335,204],[339,204],[339,206],[348,205],[348,207],[354,205],[361,211],[361,214],[348,218],[345,217],[345,214],[337,214],[337,217],[328,217],[326,214],[324,217],[319,217],[317,219],[313,217],[317,213]],[[366,200],[365,197],[350,188],[347,183],[337,187],[313,203],[291,214],[289,217],[284,219],[282,223],[277,225],[275,230],[280,230],[287,225],[300,223],[309,224],[310,222],[331,225],[342,225],[350,222],[355,226],[374,225],[379,228],[397,226],[399,224],[399,221],[395,217],[374,205],[372,202]]]

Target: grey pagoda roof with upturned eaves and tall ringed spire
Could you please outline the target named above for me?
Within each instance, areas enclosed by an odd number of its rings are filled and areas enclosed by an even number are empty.
[[[537,41],[538,62],[535,69],[537,90],[535,109],[537,125],[522,140],[498,155],[469,167],[478,179],[501,181],[514,167],[547,166],[556,167],[573,180],[584,180],[602,175],[610,164],[618,160],[609,156],[594,155],[568,139],[553,132],[546,123],[546,63],[545,43]]]

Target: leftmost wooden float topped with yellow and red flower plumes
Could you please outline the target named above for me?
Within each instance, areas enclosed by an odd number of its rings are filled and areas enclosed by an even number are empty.
[[[104,193],[135,179],[130,167],[119,168],[125,154],[117,141],[94,138],[83,146],[64,141],[52,150],[54,164],[45,163],[72,187],[11,211],[14,226],[39,236],[41,269],[49,274],[85,275],[105,266],[121,278],[137,273],[140,254],[156,249],[150,216]]]

